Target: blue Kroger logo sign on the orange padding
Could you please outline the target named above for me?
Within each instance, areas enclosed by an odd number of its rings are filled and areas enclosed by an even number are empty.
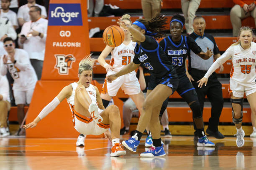
[[[80,4],[50,4],[49,25],[83,25]]]

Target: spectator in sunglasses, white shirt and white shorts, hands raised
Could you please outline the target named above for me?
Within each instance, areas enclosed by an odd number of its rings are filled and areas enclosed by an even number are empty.
[[[18,122],[21,124],[25,116],[24,105],[30,104],[36,85],[36,72],[30,63],[28,53],[15,48],[12,38],[6,37],[3,42],[8,54],[2,57],[0,73],[6,75],[8,69],[14,79],[13,95],[17,105]]]

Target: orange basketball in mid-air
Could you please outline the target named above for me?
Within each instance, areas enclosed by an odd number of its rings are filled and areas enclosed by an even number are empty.
[[[117,47],[122,44],[124,40],[124,32],[122,28],[117,25],[110,25],[103,32],[103,41],[110,47]]]

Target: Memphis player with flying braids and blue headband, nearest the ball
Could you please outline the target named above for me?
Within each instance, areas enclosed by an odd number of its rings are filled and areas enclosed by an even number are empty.
[[[131,26],[119,20],[118,24],[131,32],[131,40],[137,42],[134,49],[135,56],[129,65],[125,66],[119,72],[107,76],[107,81],[112,82],[121,75],[136,70],[141,63],[145,67],[148,67],[148,70],[152,74],[137,129],[129,140],[122,142],[126,148],[136,152],[142,133],[146,129],[146,126],[149,125],[154,147],[151,147],[147,152],[141,153],[142,157],[166,155],[160,138],[161,125],[159,112],[163,102],[169,95],[173,94],[179,83],[172,62],[154,39],[165,36],[164,30],[166,27],[164,25],[166,24],[166,20],[167,18],[160,14],[156,14],[149,21],[138,19]]]

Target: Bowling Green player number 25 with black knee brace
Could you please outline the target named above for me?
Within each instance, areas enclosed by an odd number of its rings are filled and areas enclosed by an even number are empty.
[[[256,43],[253,41],[253,32],[249,27],[242,27],[238,32],[238,42],[232,44],[221,57],[216,60],[205,76],[199,80],[198,87],[206,85],[208,77],[220,65],[228,59],[232,59],[232,70],[230,72],[230,102],[232,105],[233,122],[236,126],[236,145],[244,145],[244,131],[242,129],[243,119],[243,95],[251,107],[251,114],[256,115]],[[253,125],[255,125],[255,119]]]

